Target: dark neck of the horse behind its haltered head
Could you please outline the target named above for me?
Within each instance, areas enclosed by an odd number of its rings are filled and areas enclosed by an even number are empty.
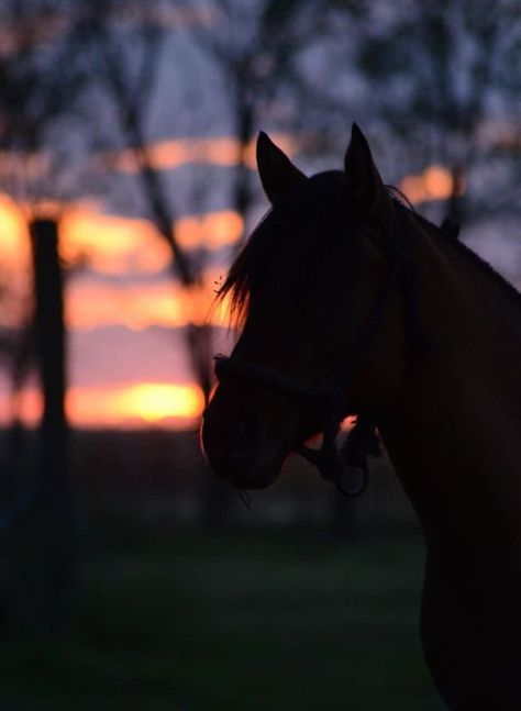
[[[475,542],[521,514],[521,299],[424,231],[414,262],[432,347],[378,424],[428,542]]]

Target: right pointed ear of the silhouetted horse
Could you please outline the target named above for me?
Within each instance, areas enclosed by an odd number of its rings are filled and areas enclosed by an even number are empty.
[[[383,197],[386,196],[369,144],[356,123],[351,130],[351,141],[345,152],[344,170],[350,184],[350,191],[357,205],[377,212]]]

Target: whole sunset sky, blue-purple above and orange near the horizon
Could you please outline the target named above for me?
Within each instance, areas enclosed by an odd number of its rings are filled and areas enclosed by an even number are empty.
[[[21,144],[9,143],[7,131],[0,153],[0,325],[15,326],[27,312],[26,222],[27,215],[34,215],[35,197],[44,197],[46,203],[38,203],[38,214],[45,210],[51,216],[59,214],[69,335],[67,409],[75,426],[170,429],[197,422],[202,398],[193,384],[185,327],[207,322],[225,325],[222,309],[211,309],[215,285],[237,242],[268,208],[255,173],[259,130],[270,132],[282,151],[312,174],[342,166],[348,126],[357,121],[368,134],[385,180],[396,184],[420,212],[434,220],[442,215],[452,190],[448,167],[467,167],[463,148],[468,136],[463,136],[459,124],[453,131],[451,119],[446,125],[434,126],[419,101],[429,99],[437,110],[436,102],[446,98],[465,109],[476,74],[473,48],[477,40],[457,12],[456,20],[463,23],[458,33],[467,44],[462,40],[457,47],[446,48],[455,52],[451,55],[455,76],[446,77],[454,81],[454,97],[437,97],[437,82],[433,96],[428,96],[424,86],[432,62],[434,74],[439,66],[430,45],[417,47],[421,60],[414,59],[410,70],[395,68],[392,81],[383,82],[383,75],[378,79],[376,68],[362,62],[363,53],[356,58],[355,51],[363,49],[364,37],[374,31],[389,32],[393,42],[395,15],[400,14],[395,8],[387,16],[375,7],[365,20],[347,13],[345,25],[336,22],[333,12],[329,29],[324,25],[318,31],[312,13],[307,14],[303,7],[300,12],[299,3],[289,3],[273,16],[263,3],[201,0],[188,4],[115,3],[113,14],[102,23],[103,32],[98,36],[95,32],[85,46],[76,43],[79,35],[68,35],[76,26],[91,26],[81,24],[82,13],[44,13],[37,22],[30,14],[26,26],[14,14],[12,24],[4,23],[0,31],[0,56],[5,62],[12,58],[9,76],[14,81],[12,93],[7,95],[5,116],[13,122],[12,136],[20,127],[24,135]],[[408,14],[402,20],[410,21]],[[68,44],[71,38],[77,56]],[[464,46],[468,52],[459,52]],[[31,53],[26,56],[27,47],[35,49],[34,65]],[[29,57],[26,66],[22,57]],[[69,59],[67,66],[64,57]],[[74,71],[82,69],[69,76],[69,65]],[[118,76],[110,71],[114,67]],[[23,84],[24,71],[29,71],[29,85]],[[31,71],[40,78],[35,80]],[[25,86],[30,90],[21,90]],[[79,93],[73,99],[77,87]],[[51,123],[46,125],[42,125],[45,113],[38,113],[38,107],[47,105],[40,89],[47,99],[49,90],[65,91],[65,111],[47,115]],[[128,97],[130,104],[121,103],[122,96]],[[498,93],[492,82],[475,125],[473,151],[486,156],[466,171],[475,204],[486,202],[483,198],[489,198],[490,187],[505,200],[507,193],[498,178],[502,175],[510,182],[514,176],[510,169],[501,174],[500,165],[507,149],[516,155],[519,140],[509,96]],[[404,124],[412,121],[411,133],[402,136],[399,121],[390,125],[393,119],[389,123],[385,109],[389,101],[393,116],[406,111]],[[54,100],[48,105],[54,111]],[[22,109],[27,123],[20,119]],[[463,109],[454,116],[467,115]],[[31,119],[32,111],[36,119]],[[134,132],[128,122],[133,111],[140,116]],[[443,115],[453,114],[445,111]],[[25,131],[31,120],[41,134],[40,143],[26,142],[32,135]],[[245,149],[234,137],[242,134],[251,136]],[[176,237],[203,275],[201,285],[189,293],[174,278],[170,248],[147,219],[153,210],[133,149],[136,141],[143,142],[141,155],[158,176],[165,203],[175,216]],[[254,196],[245,219],[232,209],[237,164]],[[18,196],[18,203],[8,192]],[[487,204],[492,205],[490,220],[481,212],[477,227],[465,219],[462,238],[519,286],[519,225],[512,216],[499,222],[494,199]],[[215,327],[215,338],[214,352],[230,348],[225,327]],[[0,424],[11,414],[9,388],[2,369]],[[34,375],[22,407],[25,420],[36,423],[41,403]]]

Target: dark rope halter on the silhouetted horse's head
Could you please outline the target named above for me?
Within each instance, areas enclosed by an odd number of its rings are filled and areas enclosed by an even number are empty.
[[[319,412],[323,435],[321,447],[312,449],[298,443],[293,451],[313,464],[323,479],[332,481],[339,491],[350,497],[362,493],[367,485],[368,456],[379,456],[381,452],[376,425],[369,413],[358,413],[354,429],[337,447],[336,438],[342,421],[350,413],[344,392],[353,382],[362,358],[372,348],[385,320],[387,305],[395,295],[401,293],[406,307],[409,365],[412,365],[417,356],[426,347],[419,313],[411,241],[407,225],[403,224],[404,210],[401,205],[397,205],[395,215],[398,229],[393,231],[393,247],[390,252],[385,251],[389,262],[389,276],[373,305],[368,321],[359,331],[350,359],[334,379],[324,380],[319,385],[308,385],[274,368],[245,363],[236,356],[218,355],[214,358],[215,376],[220,382],[242,380],[268,388]],[[361,232],[367,234],[383,249],[381,238],[377,233],[365,225],[361,227]],[[355,490],[346,489],[342,484],[346,474],[351,475],[353,469],[362,470],[362,484]]]

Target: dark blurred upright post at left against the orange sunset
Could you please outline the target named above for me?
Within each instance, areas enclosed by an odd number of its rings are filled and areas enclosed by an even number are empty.
[[[31,224],[35,356],[43,396],[32,496],[9,532],[10,599],[19,632],[56,632],[70,604],[74,523],[67,470],[65,325],[58,230]]]

